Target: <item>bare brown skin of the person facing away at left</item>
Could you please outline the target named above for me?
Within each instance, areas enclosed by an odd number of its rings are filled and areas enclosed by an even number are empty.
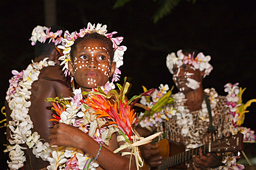
[[[49,78],[57,79],[65,82],[67,85],[70,85],[68,78],[64,76],[62,71],[62,67],[60,66],[60,61],[57,59],[60,57],[60,54],[57,50],[53,50],[48,56],[39,56],[35,59],[34,62],[42,61],[44,58],[48,57],[49,60],[55,61],[55,63],[59,65],[44,67],[40,70],[39,78],[32,85],[32,89],[30,92],[30,101],[31,106],[29,108],[29,116],[33,121],[33,129],[37,131],[40,135],[40,138],[43,138],[46,142],[49,142],[48,136],[50,135],[49,129],[53,128],[54,123],[49,121],[49,119],[53,118],[53,111],[51,111],[52,104],[46,102],[46,98],[55,98],[56,96],[64,97],[71,96],[70,89],[59,83],[57,81],[50,81]],[[11,120],[10,118],[10,109],[8,107],[8,103],[6,102],[6,115],[7,122]],[[10,138],[10,129],[7,128],[7,138]],[[27,147],[23,145],[23,147]],[[36,158],[32,153],[32,149],[24,150],[26,154],[26,162],[24,162],[24,170],[28,169],[46,169],[48,166],[47,161],[43,161],[41,158]]]

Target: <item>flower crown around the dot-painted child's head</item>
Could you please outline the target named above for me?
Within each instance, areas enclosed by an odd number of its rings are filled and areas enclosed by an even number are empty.
[[[107,33],[107,25],[101,26],[100,23],[98,23],[95,27],[95,24],[88,23],[87,28],[81,29],[80,32],[72,32],[69,34],[67,31],[65,32],[66,38],[62,39],[62,42],[64,45],[58,45],[57,47],[63,50],[64,56],[61,56],[59,60],[62,61],[61,65],[64,64],[63,70],[65,70],[65,74],[69,74],[68,71],[68,61],[71,61],[71,46],[74,44],[74,41],[78,39],[79,37],[84,37],[86,34],[90,34],[92,32],[97,32],[98,34],[104,35],[107,38],[109,38],[113,43],[113,50],[114,56],[113,56],[113,62],[116,62],[116,69],[118,70],[118,67],[123,65],[123,55],[125,51],[127,50],[126,46],[118,46],[121,42],[123,37],[118,36],[116,38],[113,38],[113,34],[116,34],[118,32],[111,32],[109,34]]]

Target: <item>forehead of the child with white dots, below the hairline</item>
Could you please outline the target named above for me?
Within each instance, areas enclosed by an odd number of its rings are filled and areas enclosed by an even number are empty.
[[[97,39],[84,39],[79,44],[77,44],[77,50],[89,50],[90,49],[89,47],[90,48],[97,47],[98,50],[105,49],[105,50],[107,50],[107,52],[109,52],[107,43],[104,43]],[[104,47],[104,48],[102,49],[99,47]]]

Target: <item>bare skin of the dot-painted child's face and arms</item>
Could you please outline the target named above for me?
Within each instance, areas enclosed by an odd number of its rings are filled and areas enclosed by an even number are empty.
[[[88,50],[88,47],[97,50],[92,53]],[[103,50],[100,47],[107,49],[107,44],[94,39],[81,41],[77,45],[77,51],[73,56],[74,59],[68,63],[68,70],[70,70],[71,75],[74,76],[75,81],[81,87],[82,92],[90,92],[92,87],[95,88],[98,85],[104,85],[107,83],[109,76],[112,76],[113,72],[116,70],[116,63],[110,63],[108,51]],[[84,61],[84,63],[82,63],[82,61]],[[86,61],[88,61],[87,64]],[[107,68],[106,65],[109,68]],[[107,74],[104,74],[107,70],[110,70],[108,76]],[[100,147],[98,142],[72,125],[60,123],[55,125],[55,127],[50,130],[50,133],[52,134],[51,136],[48,136],[48,139],[51,140],[50,145],[75,147],[81,149],[84,153],[89,154],[92,158],[95,158],[98,153]],[[119,153],[113,153],[113,151],[118,149],[120,145],[124,145],[125,143],[123,141],[117,142],[117,136],[118,133],[113,134],[111,140],[109,140],[109,146],[102,145],[102,149],[97,159],[100,167],[97,169],[136,169],[134,156],[121,156]],[[122,152],[130,152],[130,150],[124,149]]]

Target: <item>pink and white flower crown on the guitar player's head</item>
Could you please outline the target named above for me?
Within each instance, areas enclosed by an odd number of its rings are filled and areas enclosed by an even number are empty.
[[[200,52],[199,54],[197,54],[196,58],[194,58],[194,52],[193,54],[188,54],[188,56],[185,56],[182,50],[179,50],[177,52],[177,56],[178,57],[176,57],[176,54],[172,52],[166,57],[166,65],[171,74],[174,74],[174,72],[172,71],[174,65],[193,65],[195,69],[205,71],[203,78],[209,75],[213,69],[212,65],[209,64],[209,61],[211,59],[210,56],[204,56],[203,52]]]

